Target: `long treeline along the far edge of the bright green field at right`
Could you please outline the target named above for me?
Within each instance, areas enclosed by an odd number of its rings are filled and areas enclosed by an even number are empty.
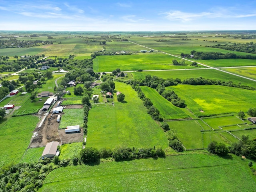
[[[256,90],[254,87],[242,85],[241,83],[234,84],[232,81],[221,81],[221,80],[213,80],[213,79],[205,79],[202,77],[198,78],[187,78],[182,81],[182,84],[188,85],[222,85],[229,87],[237,87],[248,90]]]

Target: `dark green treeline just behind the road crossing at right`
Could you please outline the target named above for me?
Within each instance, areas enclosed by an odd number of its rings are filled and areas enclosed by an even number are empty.
[[[194,52],[194,59],[256,59],[254,55],[236,55],[234,53],[223,54],[221,52]]]

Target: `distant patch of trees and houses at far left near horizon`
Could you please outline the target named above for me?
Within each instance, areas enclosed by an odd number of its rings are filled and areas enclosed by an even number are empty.
[[[46,44],[53,44],[52,41],[24,41],[17,40],[16,38],[10,38],[9,40],[0,40],[0,49],[4,48],[22,48],[22,47],[34,47]]]

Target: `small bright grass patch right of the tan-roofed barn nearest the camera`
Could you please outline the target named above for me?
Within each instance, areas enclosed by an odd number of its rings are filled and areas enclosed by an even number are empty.
[[[79,156],[82,146],[82,142],[63,144],[60,146],[60,159],[72,159],[74,156]]]

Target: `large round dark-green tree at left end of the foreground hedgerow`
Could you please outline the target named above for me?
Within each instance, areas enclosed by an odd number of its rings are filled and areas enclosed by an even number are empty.
[[[100,153],[98,149],[93,147],[86,147],[80,152],[81,161],[86,164],[100,160]]]

